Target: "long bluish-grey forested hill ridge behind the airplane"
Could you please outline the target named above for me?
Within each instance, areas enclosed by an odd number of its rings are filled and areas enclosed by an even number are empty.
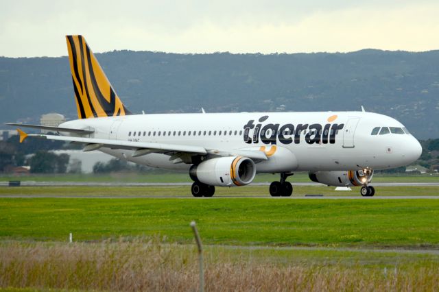
[[[132,112],[366,110],[439,137],[439,51],[97,54]],[[0,123],[76,117],[67,57],[0,58]],[[4,126],[0,126],[4,128]]]

